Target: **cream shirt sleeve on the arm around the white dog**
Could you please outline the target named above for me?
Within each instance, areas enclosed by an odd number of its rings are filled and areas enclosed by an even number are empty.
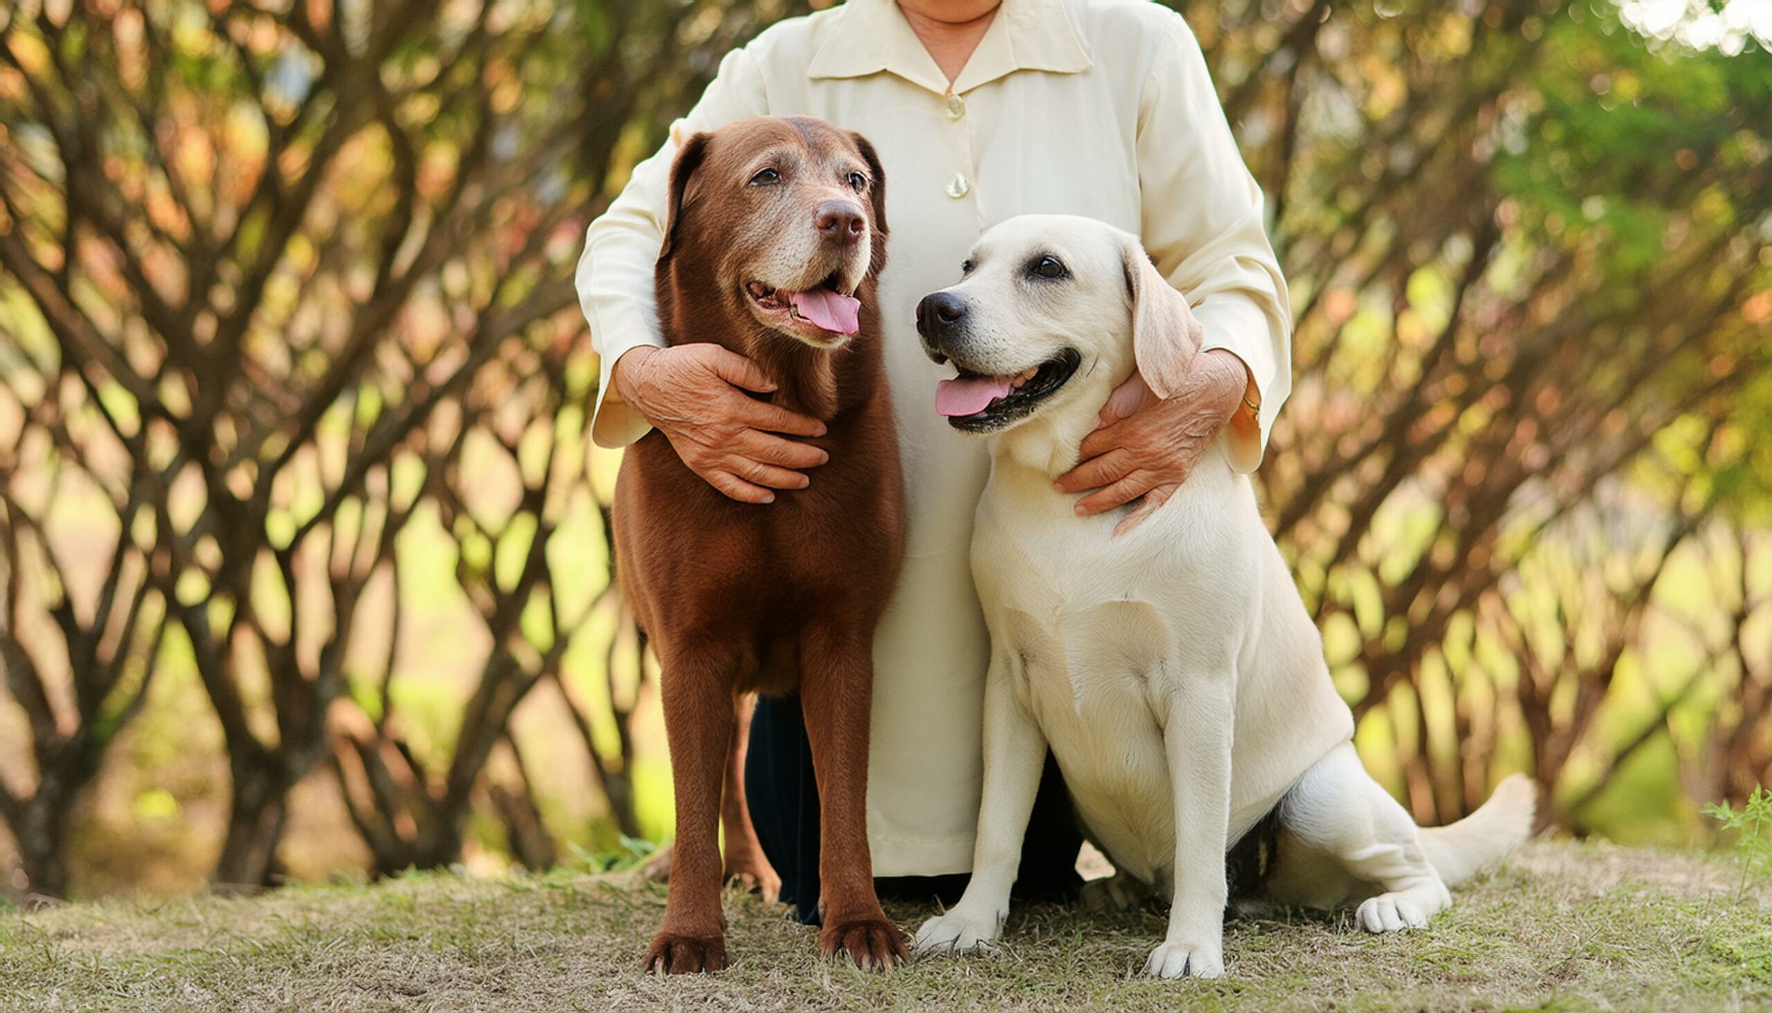
[[[1205,57],[1180,16],[1145,80],[1138,110],[1143,238],[1205,328],[1249,367],[1253,390],[1226,436],[1232,463],[1253,472],[1292,392],[1292,309],[1262,222],[1262,188],[1237,151]]]

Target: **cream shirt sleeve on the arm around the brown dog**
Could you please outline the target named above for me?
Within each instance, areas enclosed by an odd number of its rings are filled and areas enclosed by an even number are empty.
[[[767,114],[764,80],[744,50],[719,62],[718,76],[688,115],[672,124],[670,138],[652,158],[634,167],[622,195],[585,231],[578,259],[578,303],[590,323],[590,342],[602,365],[597,413],[590,436],[601,447],[626,447],[650,428],[640,412],[622,403],[610,374],[615,360],[641,344],[663,348],[652,270],[664,241],[670,213],[670,163],[677,142],[746,115]]]

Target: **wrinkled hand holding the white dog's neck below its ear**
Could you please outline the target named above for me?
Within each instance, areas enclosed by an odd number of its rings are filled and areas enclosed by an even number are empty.
[[[1125,534],[1175,495],[1212,438],[1242,404],[1249,371],[1216,348],[1196,355],[1171,397],[1157,397],[1134,373],[1102,406],[1100,426],[1083,440],[1083,459],[1058,477],[1061,493],[1095,490],[1077,500],[1079,514],[1125,506],[1138,509],[1113,532]]]

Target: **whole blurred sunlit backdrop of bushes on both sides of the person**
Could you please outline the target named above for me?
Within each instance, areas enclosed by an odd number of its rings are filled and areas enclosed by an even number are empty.
[[[1368,766],[1708,844],[1772,779],[1772,0],[1177,7],[1292,282],[1263,506]],[[804,11],[0,5],[0,891],[670,836],[571,275]]]

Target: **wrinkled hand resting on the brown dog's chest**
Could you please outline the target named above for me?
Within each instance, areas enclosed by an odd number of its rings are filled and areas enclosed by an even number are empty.
[[[776,385],[755,362],[718,344],[634,348],[615,362],[610,380],[691,472],[739,502],[769,504],[771,490],[803,490],[812,479],[801,470],[831,459],[778,436],[822,436],[824,422],[748,396]]]

